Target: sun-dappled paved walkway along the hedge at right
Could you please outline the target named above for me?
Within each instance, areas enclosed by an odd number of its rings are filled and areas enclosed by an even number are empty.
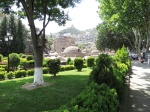
[[[150,112],[150,65],[132,61],[132,72],[124,112]]]

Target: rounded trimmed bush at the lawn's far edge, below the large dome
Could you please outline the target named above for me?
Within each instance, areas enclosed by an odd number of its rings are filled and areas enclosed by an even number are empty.
[[[80,57],[75,58],[74,60],[74,67],[78,70],[81,71],[83,68],[83,59]]]

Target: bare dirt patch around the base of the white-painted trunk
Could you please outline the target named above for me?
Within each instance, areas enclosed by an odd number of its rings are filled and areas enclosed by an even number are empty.
[[[42,85],[34,85],[33,83],[27,83],[21,86],[21,88],[26,89],[26,90],[33,90],[36,88],[40,88],[40,87],[46,87],[46,86],[50,86],[51,83],[48,82],[44,82],[44,84]]]

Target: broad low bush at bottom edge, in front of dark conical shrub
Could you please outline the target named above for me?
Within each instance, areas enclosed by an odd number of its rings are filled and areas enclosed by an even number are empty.
[[[117,112],[119,102],[115,89],[91,83],[73,101],[70,112]]]

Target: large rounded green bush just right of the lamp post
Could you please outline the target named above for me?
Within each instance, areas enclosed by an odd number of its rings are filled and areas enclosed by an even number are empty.
[[[9,63],[10,67],[17,67],[20,63],[20,57],[17,53],[11,53],[9,55]]]

